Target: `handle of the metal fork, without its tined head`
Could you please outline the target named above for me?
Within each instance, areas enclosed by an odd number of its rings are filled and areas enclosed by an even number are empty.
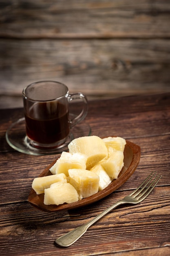
[[[68,232],[67,234],[60,236],[55,240],[55,243],[57,243],[60,246],[68,247],[75,243],[86,231],[91,225],[93,225],[97,220],[101,219],[103,216],[105,216],[108,212],[119,206],[120,204],[125,204],[126,202],[124,200],[120,200],[116,202],[115,204],[112,204],[110,207],[108,207],[105,211],[102,211],[99,215],[97,215],[95,218],[93,218],[91,221],[87,222],[86,224],[77,227],[73,229],[72,231]]]

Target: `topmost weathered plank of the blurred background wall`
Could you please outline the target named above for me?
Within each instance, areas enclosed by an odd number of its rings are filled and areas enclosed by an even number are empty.
[[[166,0],[1,0],[0,36],[8,38],[169,38]]]

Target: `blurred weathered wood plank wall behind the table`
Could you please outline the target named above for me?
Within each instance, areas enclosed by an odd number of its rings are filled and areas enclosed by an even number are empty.
[[[0,0],[0,108],[48,79],[88,99],[170,92],[170,1]]]

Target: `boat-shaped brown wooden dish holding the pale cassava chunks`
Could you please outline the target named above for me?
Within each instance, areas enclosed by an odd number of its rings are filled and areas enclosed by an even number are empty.
[[[63,211],[75,209],[78,207],[82,207],[93,202],[96,202],[105,196],[109,195],[116,189],[118,189],[122,184],[128,180],[128,178],[134,173],[135,169],[140,160],[141,150],[140,147],[136,144],[126,141],[125,149],[124,149],[124,167],[122,168],[119,176],[116,180],[113,180],[105,189],[99,191],[98,193],[89,196],[88,198],[84,198],[78,202],[74,202],[71,204],[60,204],[60,205],[45,205],[44,204],[44,194],[37,195],[33,189],[31,189],[29,193],[28,201],[36,208],[42,211]],[[56,159],[57,160],[57,159]],[[56,160],[51,163],[45,170],[40,174],[39,177],[52,175],[49,171],[49,168],[55,164]]]

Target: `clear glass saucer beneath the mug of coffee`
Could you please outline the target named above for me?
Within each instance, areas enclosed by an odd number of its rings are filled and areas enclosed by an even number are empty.
[[[73,117],[73,114],[71,114]],[[54,155],[62,153],[62,151],[67,151],[67,145],[75,138],[90,136],[91,135],[91,127],[85,121],[77,124],[73,128],[64,142],[60,147],[53,149],[38,149],[34,148],[29,144],[29,141],[26,137],[25,132],[25,118],[22,117],[18,119],[18,121],[14,122],[6,132],[6,140],[11,148],[28,155]]]

